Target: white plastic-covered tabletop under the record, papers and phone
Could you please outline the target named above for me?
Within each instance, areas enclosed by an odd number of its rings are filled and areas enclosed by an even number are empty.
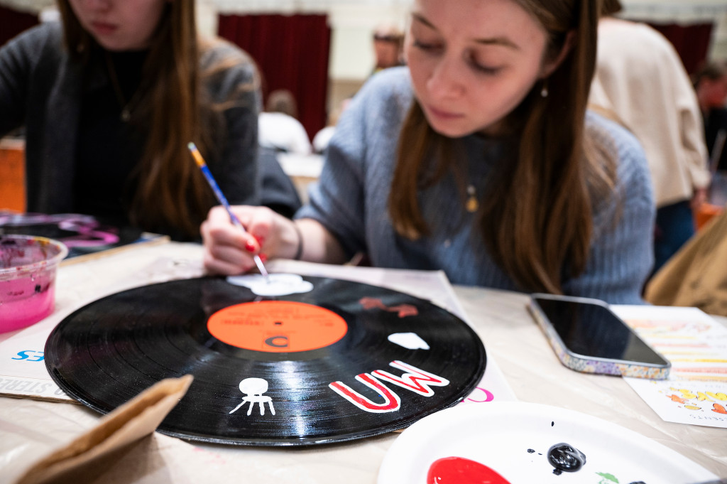
[[[138,274],[159,258],[198,261],[200,255],[201,247],[197,245],[169,243],[137,247],[92,263],[63,266],[56,311],[72,308],[84,291],[93,287],[128,282],[132,274]],[[455,292],[482,338],[488,357],[497,361],[518,399],[603,418],[667,445],[720,477],[727,477],[725,429],[662,421],[622,378],[577,373],[561,365],[526,312],[526,295],[481,287],[455,287]],[[12,442],[0,438],[0,475],[4,476],[0,480],[17,473],[17,462],[23,456],[26,461],[29,456],[40,456],[92,427],[97,418],[91,410],[73,403],[0,397],[0,435],[20,435]],[[132,467],[120,461],[116,477],[103,482],[179,483],[195,482],[196,477],[228,477],[245,482],[373,484],[379,464],[396,436],[305,449],[204,445],[213,453],[200,453],[191,445],[156,434],[153,440],[145,441],[129,454],[128,459],[134,459]],[[23,445],[18,443],[21,441]]]

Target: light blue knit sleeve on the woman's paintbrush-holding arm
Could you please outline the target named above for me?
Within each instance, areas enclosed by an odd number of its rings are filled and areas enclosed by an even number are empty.
[[[374,262],[384,246],[395,153],[411,101],[408,68],[371,76],[336,124],[321,178],[309,191],[308,205],[296,214],[320,222],[348,256],[368,253]]]

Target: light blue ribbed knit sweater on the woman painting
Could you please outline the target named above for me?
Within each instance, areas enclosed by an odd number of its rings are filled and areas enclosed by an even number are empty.
[[[454,284],[521,290],[491,258],[473,226],[476,218],[463,210],[462,196],[451,177],[420,194],[431,235],[410,241],[395,233],[387,201],[398,133],[411,101],[406,68],[383,71],[364,86],[341,117],[321,179],[297,218],[321,222],[348,255],[367,253],[374,266],[441,269]],[[601,116],[589,113],[587,130],[607,137],[608,145],[617,150],[618,186],[594,213],[585,272],[563,279],[563,291],[611,304],[640,304],[640,290],[653,261],[654,199],[646,159],[629,132]],[[494,167],[504,162],[504,143],[478,135],[461,142],[467,156],[467,181],[481,197]]]

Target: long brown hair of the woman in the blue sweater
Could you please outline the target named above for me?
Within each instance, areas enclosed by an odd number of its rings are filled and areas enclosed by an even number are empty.
[[[598,0],[515,0],[548,34],[545,60],[554,60],[575,37],[570,52],[547,79],[537,82],[507,126],[518,135],[516,159],[499,172],[481,201],[479,226],[494,261],[525,290],[561,293],[563,276],[585,270],[593,232],[593,204],[614,189],[615,162],[606,146],[585,132],[585,111],[595,71]],[[414,101],[403,124],[389,199],[395,229],[417,238],[428,228],[417,191],[455,170],[450,146]],[[433,154],[437,169],[422,179]],[[431,172],[431,170],[429,170]],[[461,179],[462,174],[456,178]]]

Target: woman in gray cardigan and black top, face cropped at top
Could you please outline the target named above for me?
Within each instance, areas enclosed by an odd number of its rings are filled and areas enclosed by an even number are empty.
[[[257,70],[202,39],[195,2],[58,0],[61,23],[0,49],[0,135],[25,125],[26,207],[198,239],[217,205],[260,202]]]

